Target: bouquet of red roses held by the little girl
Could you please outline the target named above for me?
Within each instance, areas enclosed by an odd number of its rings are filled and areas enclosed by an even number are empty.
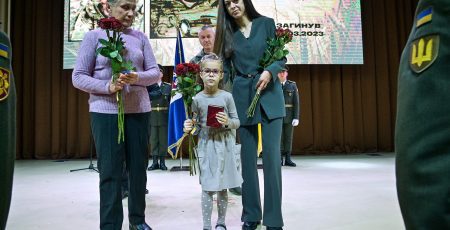
[[[177,88],[172,91],[172,94],[180,93],[182,95],[187,118],[193,118],[194,114],[192,114],[191,108],[193,97],[202,90],[202,86],[197,83],[199,73],[200,66],[195,63],[181,63],[175,67],[175,74],[177,75]],[[176,143],[177,148],[180,148],[183,143],[183,139],[188,137],[189,173],[191,176],[196,174],[194,156],[195,141],[193,137],[196,131],[197,129],[194,128],[191,132],[185,133]]]

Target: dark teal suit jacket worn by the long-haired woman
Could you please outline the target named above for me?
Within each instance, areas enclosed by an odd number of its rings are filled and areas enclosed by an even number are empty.
[[[254,117],[247,118],[247,109],[256,93],[256,83],[262,73],[259,69],[259,60],[267,47],[266,38],[274,36],[275,22],[264,16],[253,19],[249,38],[245,38],[239,30],[233,34],[234,51],[231,62],[235,76],[232,92],[241,126],[259,123],[261,110],[264,110],[269,119],[285,116],[284,98],[278,73],[286,61],[279,60],[266,68],[272,74],[272,80],[261,94]]]

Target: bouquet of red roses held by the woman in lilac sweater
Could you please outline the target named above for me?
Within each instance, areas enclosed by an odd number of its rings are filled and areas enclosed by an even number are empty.
[[[125,61],[123,59],[125,51],[125,43],[122,40],[121,32],[124,27],[122,23],[114,17],[102,18],[98,21],[98,26],[106,30],[108,40],[98,39],[102,46],[97,49],[97,54],[107,57],[111,61],[112,77],[111,82],[115,83],[120,75],[120,73],[128,73],[135,68],[131,61]],[[119,135],[117,137],[117,142],[124,141],[125,138],[125,128],[124,119],[125,111],[123,106],[122,91],[116,92],[117,100],[117,125],[119,128]]]

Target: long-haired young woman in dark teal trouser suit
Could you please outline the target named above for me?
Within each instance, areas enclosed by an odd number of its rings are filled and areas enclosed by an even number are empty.
[[[233,98],[241,123],[242,144],[242,229],[256,229],[263,220],[267,229],[282,229],[280,137],[285,116],[284,98],[277,77],[285,60],[259,68],[267,39],[275,36],[275,22],[259,14],[250,0],[221,0],[214,52],[220,54],[226,68],[233,66]],[[227,71],[225,71],[227,72]],[[247,117],[247,109],[256,93],[261,97],[255,115]],[[264,213],[257,172],[258,123],[262,124]]]

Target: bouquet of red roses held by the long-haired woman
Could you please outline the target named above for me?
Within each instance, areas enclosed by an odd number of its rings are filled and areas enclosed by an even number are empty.
[[[285,46],[292,41],[292,34],[291,30],[283,29],[281,27],[275,31],[275,37],[267,40],[267,48],[264,51],[263,57],[259,60],[260,69],[266,69],[266,67],[273,62],[285,58],[289,54],[289,51]],[[247,109],[247,117],[253,117],[255,115],[256,105],[258,104],[260,96],[261,90],[257,89],[252,103]]]

